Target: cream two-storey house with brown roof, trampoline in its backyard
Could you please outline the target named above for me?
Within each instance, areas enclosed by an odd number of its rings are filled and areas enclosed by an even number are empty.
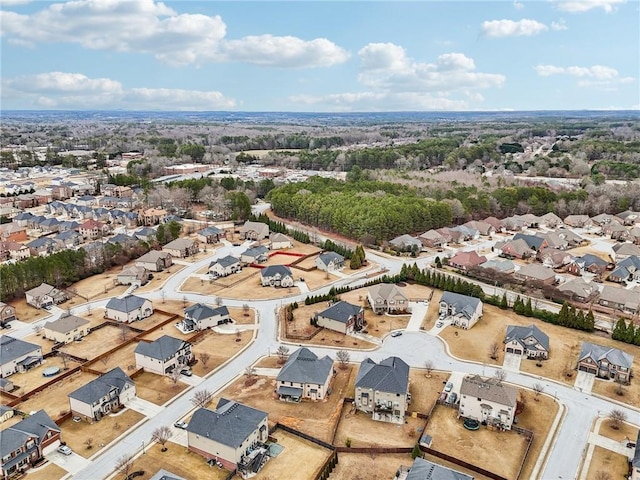
[[[518,390],[497,378],[467,375],[460,387],[461,417],[511,430],[516,414]]]

